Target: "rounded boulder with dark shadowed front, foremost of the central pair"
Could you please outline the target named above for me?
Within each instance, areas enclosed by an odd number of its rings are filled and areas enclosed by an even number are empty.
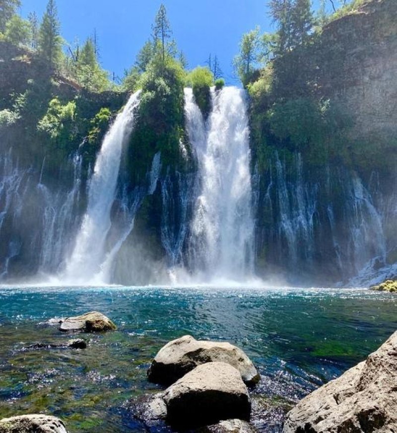
[[[177,427],[199,427],[221,420],[249,421],[251,402],[240,372],[226,362],[207,362],[164,391],[167,421]]]

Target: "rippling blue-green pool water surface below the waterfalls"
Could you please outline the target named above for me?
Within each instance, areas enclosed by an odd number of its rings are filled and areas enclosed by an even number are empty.
[[[262,375],[253,399],[276,408],[254,423],[277,431],[286,408],[396,330],[396,305],[393,294],[352,289],[0,287],[0,418],[46,412],[69,432],[145,431],[126,402],[160,389],[146,380],[151,359],[191,334],[248,354]],[[118,330],[82,335],[85,350],[25,350],[65,342],[48,320],[90,310]]]

